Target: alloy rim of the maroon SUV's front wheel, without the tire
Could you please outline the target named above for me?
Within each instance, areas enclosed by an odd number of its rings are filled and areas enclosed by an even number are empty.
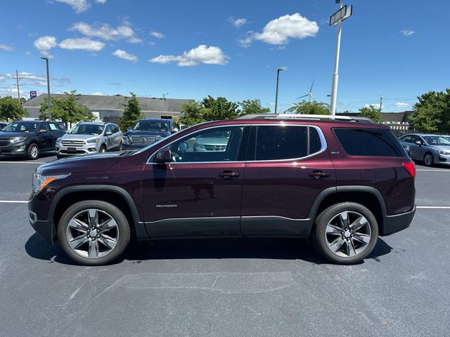
[[[66,236],[70,248],[84,258],[101,258],[119,240],[116,221],[100,209],[85,209],[70,219]]]

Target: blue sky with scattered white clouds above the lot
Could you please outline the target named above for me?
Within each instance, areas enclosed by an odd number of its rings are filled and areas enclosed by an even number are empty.
[[[379,102],[411,109],[416,96],[450,87],[450,1],[345,1],[338,112]],[[307,94],[329,103],[336,27],[333,0],[22,0],[4,1],[0,95],[46,91],[168,98],[259,98],[285,110]]]

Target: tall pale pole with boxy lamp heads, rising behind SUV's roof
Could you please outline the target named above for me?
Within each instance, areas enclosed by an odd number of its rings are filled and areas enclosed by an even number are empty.
[[[340,55],[340,34],[342,31],[342,21],[352,15],[353,6],[342,4],[342,0],[335,0],[336,4],[340,4],[339,10],[330,16],[330,26],[338,25],[338,37],[336,38],[336,55],[335,70],[333,72],[333,80],[331,81],[331,105],[330,114],[336,114],[336,101],[338,100],[338,80],[339,80],[339,55]]]

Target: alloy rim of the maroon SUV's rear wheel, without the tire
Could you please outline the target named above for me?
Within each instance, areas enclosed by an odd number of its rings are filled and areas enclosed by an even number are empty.
[[[371,242],[368,220],[355,211],[343,211],[334,216],[326,226],[328,249],[343,258],[359,255]]]

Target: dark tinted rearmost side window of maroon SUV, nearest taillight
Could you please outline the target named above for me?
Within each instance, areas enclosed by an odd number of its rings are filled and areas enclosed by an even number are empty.
[[[406,157],[406,152],[389,130],[334,128],[333,131],[351,156]]]

